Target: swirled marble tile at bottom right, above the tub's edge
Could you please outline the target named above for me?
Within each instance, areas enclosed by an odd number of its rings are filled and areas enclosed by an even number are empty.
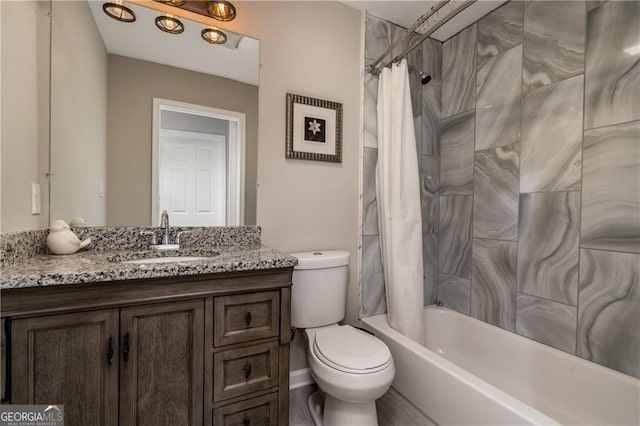
[[[640,255],[580,251],[578,352],[640,378]]]

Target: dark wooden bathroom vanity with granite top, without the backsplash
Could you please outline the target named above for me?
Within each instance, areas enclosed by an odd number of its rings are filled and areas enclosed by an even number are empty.
[[[150,255],[3,268],[3,402],[64,404],[68,425],[288,424],[295,259],[260,244]]]

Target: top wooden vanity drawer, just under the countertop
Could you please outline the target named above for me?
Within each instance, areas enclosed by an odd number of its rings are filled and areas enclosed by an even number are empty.
[[[278,335],[280,292],[265,291],[215,298],[214,346]]]

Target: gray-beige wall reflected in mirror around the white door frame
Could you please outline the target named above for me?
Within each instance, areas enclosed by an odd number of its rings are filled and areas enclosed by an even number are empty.
[[[154,97],[246,114],[245,224],[255,224],[258,87],[118,55],[108,75],[107,224],[150,224]]]

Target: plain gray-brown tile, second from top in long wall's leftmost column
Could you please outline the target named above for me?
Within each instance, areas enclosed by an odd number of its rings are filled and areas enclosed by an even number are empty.
[[[475,111],[442,121],[440,139],[440,195],[473,193]]]

